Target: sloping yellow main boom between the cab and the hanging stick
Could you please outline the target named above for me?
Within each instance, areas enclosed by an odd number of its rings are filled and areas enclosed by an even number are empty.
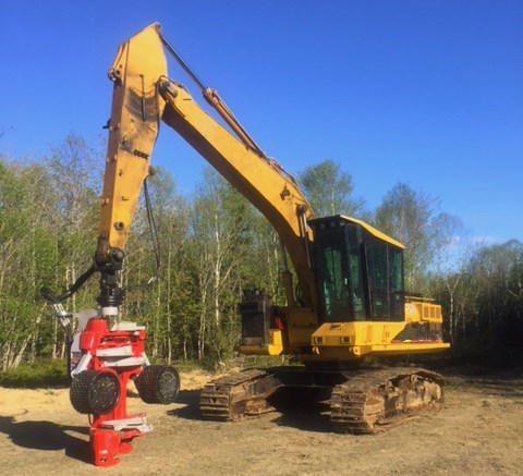
[[[234,137],[181,85],[162,80],[160,94],[167,102],[163,122],[191,144],[278,231],[294,266],[303,302],[315,307],[316,290],[308,257],[312,237],[306,224],[312,212],[295,181],[283,173],[276,160],[259,156]]]

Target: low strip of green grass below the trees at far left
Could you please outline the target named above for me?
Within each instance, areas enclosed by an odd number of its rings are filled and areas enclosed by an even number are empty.
[[[22,364],[16,369],[0,373],[0,387],[47,389],[49,387],[66,387],[68,385],[65,362],[60,359]]]

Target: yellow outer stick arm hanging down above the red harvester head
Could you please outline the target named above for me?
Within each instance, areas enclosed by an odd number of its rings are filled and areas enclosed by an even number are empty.
[[[113,82],[96,261],[124,249],[158,135],[163,100],[158,95],[167,61],[155,23],[120,46],[109,70]]]

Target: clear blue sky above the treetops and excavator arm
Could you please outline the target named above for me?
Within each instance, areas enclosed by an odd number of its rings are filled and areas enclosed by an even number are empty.
[[[2,2],[0,151],[99,143],[117,47],[155,21],[287,170],[329,158],[372,208],[402,181],[523,241],[522,1]],[[153,161],[184,193],[205,166],[168,127]]]

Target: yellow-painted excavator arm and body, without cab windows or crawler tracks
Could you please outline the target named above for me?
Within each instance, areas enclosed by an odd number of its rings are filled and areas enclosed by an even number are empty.
[[[109,72],[114,90],[108,124],[97,261],[109,263],[114,249],[125,247],[162,121],[265,215],[292,261],[301,289],[300,302],[294,296],[291,272],[285,270],[283,282],[288,303],[281,310],[283,324],[266,327],[265,335],[259,339],[244,338],[240,352],[291,354],[304,361],[350,361],[364,355],[448,349],[449,344],[440,338],[441,308],[427,300],[402,295],[405,308],[401,320],[397,317],[374,319],[372,315],[363,316],[360,310],[357,318],[349,315],[339,321],[325,318],[321,303],[326,297],[321,297],[321,289],[327,278],[321,280],[314,265],[315,241],[319,234],[315,236],[313,211],[296,181],[276,160],[265,156],[216,91],[203,90],[204,99],[217,109],[233,132],[204,111],[184,86],[168,78],[165,42],[159,25],[148,26],[119,48]],[[373,243],[380,243],[397,254],[402,252],[401,243],[361,220],[333,219],[345,228],[356,227],[357,233],[366,236],[362,249],[363,246],[370,249]],[[320,230],[324,223],[317,227]],[[362,290],[367,292],[363,285]],[[411,328],[423,332],[409,337],[405,329]],[[419,338],[430,333],[434,334],[430,339]]]

